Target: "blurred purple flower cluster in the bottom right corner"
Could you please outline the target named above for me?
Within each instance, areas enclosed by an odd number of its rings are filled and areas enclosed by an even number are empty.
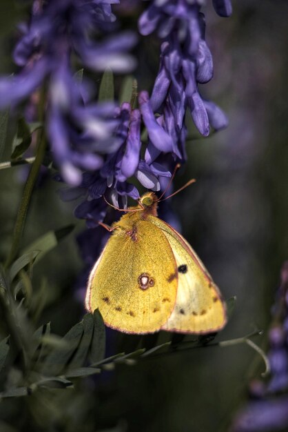
[[[288,429],[288,262],[272,308],[268,358],[271,376],[267,383],[251,383],[251,402],[236,416],[233,432],[264,432]]]

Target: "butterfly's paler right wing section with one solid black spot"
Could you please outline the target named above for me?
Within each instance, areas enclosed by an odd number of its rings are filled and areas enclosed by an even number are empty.
[[[178,267],[176,304],[163,330],[179,333],[212,333],[226,323],[226,306],[203,262],[189,243],[157,217],[150,221],[167,238]]]

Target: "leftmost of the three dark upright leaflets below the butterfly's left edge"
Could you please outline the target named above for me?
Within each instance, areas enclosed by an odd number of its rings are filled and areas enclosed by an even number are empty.
[[[67,346],[62,348],[54,348],[45,362],[43,362],[42,373],[44,375],[59,375],[72,360],[76,349],[78,348],[83,336],[83,322],[79,322],[66,333],[63,337],[63,342]]]

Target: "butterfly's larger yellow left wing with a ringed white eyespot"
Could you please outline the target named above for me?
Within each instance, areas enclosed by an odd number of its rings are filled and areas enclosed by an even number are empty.
[[[176,260],[151,222],[117,225],[90,275],[86,307],[99,308],[105,324],[119,331],[153,333],[174,308]]]

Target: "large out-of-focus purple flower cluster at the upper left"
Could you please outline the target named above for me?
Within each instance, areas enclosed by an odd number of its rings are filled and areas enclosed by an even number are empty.
[[[103,39],[115,20],[117,0],[35,0],[30,23],[14,49],[20,70],[0,79],[0,107],[16,105],[47,84],[46,119],[52,155],[70,184],[81,182],[82,170],[103,165],[103,153],[114,151],[119,123],[114,106],[90,104],[88,86],[77,81],[72,55],[93,70],[130,70],[134,61],[125,51],[135,43],[130,32]],[[101,41],[99,41],[101,39]]]

